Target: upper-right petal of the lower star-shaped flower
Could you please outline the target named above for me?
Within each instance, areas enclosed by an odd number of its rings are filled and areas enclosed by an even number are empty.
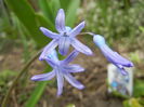
[[[63,65],[67,65],[70,62],[74,61],[75,57],[77,57],[77,55],[79,54],[79,52],[77,50],[74,50],[64,61],[61,61]]]

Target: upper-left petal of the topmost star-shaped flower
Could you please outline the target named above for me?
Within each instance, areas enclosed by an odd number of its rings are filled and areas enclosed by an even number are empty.
[[[43,32],[43,35],[45,35],[49,38],[52,39],[57,39],[60,37],[60,35],[50,31],[49,29],[44,28],[44,27],[40,27],[40,30]]]

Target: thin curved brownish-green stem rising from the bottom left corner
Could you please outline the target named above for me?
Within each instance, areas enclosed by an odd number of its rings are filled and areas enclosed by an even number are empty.
[[[6,107],[9,97],[11,92],[13,91],[14,86],[17,84],[18,79],[23,76],[24,72],[27,71],[28,67],[31,65],[31,63],[40,55],[41,51],[39,51],[38,53],[36,53],[30,59],[29,62],[27,62],[27,64],[23,67],[23,69],[19,71],[19,73],[17,75],[17,77],[15,78],[15,80],[13,81],[12,85],[10,86],[9,91],[6,92],[6,95],[2,102],[2,107]]]

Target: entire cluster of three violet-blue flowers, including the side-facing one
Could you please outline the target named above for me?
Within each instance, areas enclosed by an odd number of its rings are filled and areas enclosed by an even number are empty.
[[[79,65],[69,64],[74,61],[75,57],[79,54],[79,52],[86,55],[92,55],[91,49],[87,45],[82,44],[79,40],[77,40],[76,36],[80,34],[82,28],[84,27],[84,22],[80,23],[74,29],[68,26],[65,26],[65,13],[63,9],[60,9],[57,12],[57,16],[55,18],[55,28],[58,34],[52,32],[51,30],[40,27],[40,30],[47,37],[53,39],[42,51],[39,59],[45,61],[53,70],[51,72],[36,75],[31,77],[34,81],[45,81],[51,80],[56,77],[57,79],[57,96],[63,93],[64,79],[66,79],[73,86],[82,90],[84,88],[79,81],[77,81],[71,73],[84,71]],[[105,43],[105,39],[100,35],[89,34],[93,36],[93,41],[96,46],[102,51],[104,56],[114,65],[119,68],[119,71],[122,75],[127,75],[127,71],[123,67],[132,67],[133,64],[120,56],[117,52],[112,51],[108,45]],[[62,55],[67,55],[69,51],[69,46],[74,46],[74,51],[63,61],[58,61],[57,53],[55,48],[58,46],[58,53]]]

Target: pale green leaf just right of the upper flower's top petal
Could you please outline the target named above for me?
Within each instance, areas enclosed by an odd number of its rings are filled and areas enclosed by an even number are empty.
[[[79,8],[80,0],[71,0],[69,6],[67,8],[67,14],[66,14],[66,25],[74,27],[75,21],[76,21],[76,12]]]

